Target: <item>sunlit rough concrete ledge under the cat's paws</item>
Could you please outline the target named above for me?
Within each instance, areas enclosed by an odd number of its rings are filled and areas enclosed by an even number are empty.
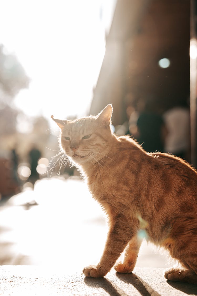
[[[0,295],[197,295],[197,285],[166,281],[164,268],[135,268],[133,274],[112,270],[105,278],[38,266],[0,266]]]

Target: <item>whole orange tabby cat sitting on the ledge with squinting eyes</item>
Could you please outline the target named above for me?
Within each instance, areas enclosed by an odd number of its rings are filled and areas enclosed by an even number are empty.
[[[165,271],[171,281],[197,284],[197,172],[165,153],[147,153],[129,136],[111,132],[112,105],[97,116],[53,120],[61,149],[87,180],[92,196],[108,215],[109,232],[97,266],[86,276],[102,277],[125,250],[121,273],[136,264],[141,237],[164,247],[179,266]]]

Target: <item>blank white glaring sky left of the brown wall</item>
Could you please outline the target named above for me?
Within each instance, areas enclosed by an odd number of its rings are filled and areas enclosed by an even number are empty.
[[[1,0],[0,43],[30,87],[14,104],[27,115],[85,115],[105,54],[115,0]]]

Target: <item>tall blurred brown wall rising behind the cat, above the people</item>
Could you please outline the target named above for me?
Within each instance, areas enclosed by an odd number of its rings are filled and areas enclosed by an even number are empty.
[[[189,0],[118,0],[90,113],[112,103],[116,125],[126,120],[129,98],[152,96],[164,109],[186,103],[189,42]],[[161,58],[170,67],[160,68]]]

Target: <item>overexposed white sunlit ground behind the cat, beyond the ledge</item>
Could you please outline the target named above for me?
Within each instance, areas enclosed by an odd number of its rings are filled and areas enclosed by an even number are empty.
[[[54,266],[70,273],[98,263],[102,255],[105,215],[80,179],[37,181],[0,212],[1,265]],[[171,264],[165,258],[143,242],[136,266],[166,268]]]

